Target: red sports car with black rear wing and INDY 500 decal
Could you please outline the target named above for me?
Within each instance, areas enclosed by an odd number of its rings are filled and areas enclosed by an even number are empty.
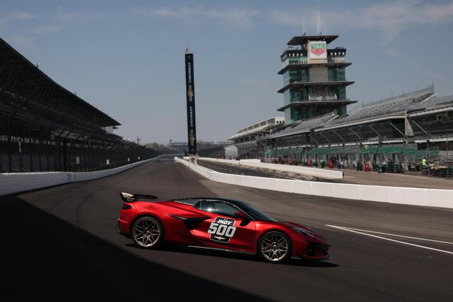
[[[323,236],[301,224],[275,220],[246,202],[217,197],[147,201],[156,198],[121,193],[117,231],[141,248],[176,244],[259,254],[272,263],[291,257],[330,259]]]

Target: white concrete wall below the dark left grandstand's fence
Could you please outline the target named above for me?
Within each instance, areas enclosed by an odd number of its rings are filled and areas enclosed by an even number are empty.
[[[102,178],[117,174],[132,167],[154,161],[164,156],[159,155],[152,159],[137,161],[129,165],[115,167],[108,170],[100,170],[95,172],[30,172],[30,173],[2,173],[0,174],[0,196],[12,194],[20,191],[28,191],[32,189],[40,189],[43,187],[51,187],[53,185],[62,185],[64,183],[73,183],[76,181],[91,181],[92,179]]]

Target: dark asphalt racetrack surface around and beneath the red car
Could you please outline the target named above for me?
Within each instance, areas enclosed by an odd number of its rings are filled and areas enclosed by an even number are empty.
[[[329,262],[163,248],[118,235],[119,192],[242,199],[327,237]],[[2,301],[452,301],[453,210],[287,194],[209,181],[172,160],[0,197]],[[375,231],[382,240],[344,229]],[[402,235],[406,237],[396,237]],[[408,237],[417,237],[413,239]],[[421,239],[437,240],[430,242]],[[419,246],[436,248],[434,251]]]

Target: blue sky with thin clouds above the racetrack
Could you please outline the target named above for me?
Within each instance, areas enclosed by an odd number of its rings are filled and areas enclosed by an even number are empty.
[[[380,100],[434,82],[453,94],[452,1],[319,1],[347,47],[347,95]],[[279,54],[315,33],[318,1],[9,1],[1,38],[143,142],[187,139],[185,47],[195,58],[198,139],[281,115]]]

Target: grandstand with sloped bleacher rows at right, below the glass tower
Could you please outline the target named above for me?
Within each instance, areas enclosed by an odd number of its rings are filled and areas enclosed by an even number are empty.
[[[437,97],[434,86],[355,108],[267,130],[266,135],[237,141],[253,145],[242,158],[345,167],[401,163],[406,169],[423,157],[435,166],[453,163],[453,95]]]

